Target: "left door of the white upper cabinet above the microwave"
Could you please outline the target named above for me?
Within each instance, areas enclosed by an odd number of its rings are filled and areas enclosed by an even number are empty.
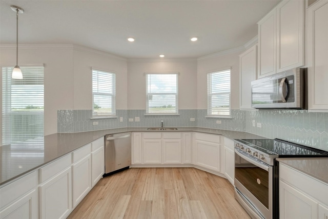
[[[276,9],[258,23],[258,78],[276,73]]]

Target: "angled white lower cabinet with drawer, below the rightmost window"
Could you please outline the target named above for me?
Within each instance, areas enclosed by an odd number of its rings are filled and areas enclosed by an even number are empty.
[[[195,133],[194,164],[220,172],[220,136]]]

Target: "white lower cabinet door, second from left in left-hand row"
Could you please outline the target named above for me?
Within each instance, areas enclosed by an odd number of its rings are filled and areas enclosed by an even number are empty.
[[[39,195],[40,218],[66,218],[72,209],[71,167],[39,186]]]

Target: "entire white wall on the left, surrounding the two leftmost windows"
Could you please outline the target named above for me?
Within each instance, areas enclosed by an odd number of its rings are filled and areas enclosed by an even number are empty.
[[[15,66],[15,45],[1,45],[0,61],[1,66]],[[116,108],[127,109],[125,58],[71,44],[18,46],[19,66],[43,64],[45,135],[57,132],[58,109],[92,109],[91,67],[116,73]]]

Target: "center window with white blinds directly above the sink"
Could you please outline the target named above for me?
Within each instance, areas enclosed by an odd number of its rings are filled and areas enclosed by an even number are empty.
[[[146,74],[146,113],[178,113],[178,74]]]

